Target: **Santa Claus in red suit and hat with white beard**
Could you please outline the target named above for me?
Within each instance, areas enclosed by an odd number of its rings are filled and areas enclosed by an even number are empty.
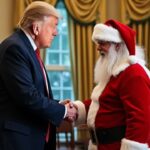
[[[135,32],[108,20],[94,27],[100,53],[91,98],[76,101],[77,124],[89,127],[89,150],[148,150],[150,73],[135,50]]]

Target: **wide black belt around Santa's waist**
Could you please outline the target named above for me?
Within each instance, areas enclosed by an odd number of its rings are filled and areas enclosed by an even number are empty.
[[[98,145],[120,141],[125,137],[125,130],[125,126],[118,126],[113,128],[90,128],[89,132],[92,143]]]

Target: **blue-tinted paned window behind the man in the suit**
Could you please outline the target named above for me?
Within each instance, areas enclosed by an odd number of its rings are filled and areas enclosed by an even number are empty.
[[[56,8],[63,19],[59,20],[58,35],[46,50],[45,64],[54,99],[74,99],[70,73],[67,11],[62,1],[58,2]]]

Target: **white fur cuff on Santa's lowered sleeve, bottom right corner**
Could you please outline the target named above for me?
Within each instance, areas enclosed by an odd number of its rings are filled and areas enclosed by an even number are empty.
[[[145,143],[139,143],[127,139],[122,139],[120,150],[150,150],[148,145]]]

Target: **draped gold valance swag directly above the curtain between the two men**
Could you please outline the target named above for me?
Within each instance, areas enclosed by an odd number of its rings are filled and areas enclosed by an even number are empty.
[[[64,0],[71,16],[81,23],[94,22],[98,17],[100,0]]]

